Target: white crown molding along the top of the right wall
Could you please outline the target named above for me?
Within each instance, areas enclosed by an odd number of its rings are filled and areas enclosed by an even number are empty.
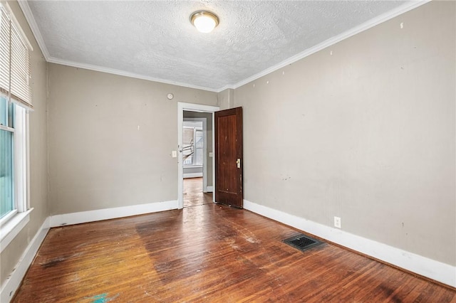
[[[290,58],[282,61],[281,63],[277,63],[276,65],[273,65],[270,68],[266,68],[266,70],[263,70],[260,73],[252,75],[252,77],[244,79],[233,85],[226,85],[226,86],[222,87],[222,89],[220,89],[219,92],[222,92],[223,90],[226,90],[228,88],[236,89],[238,87],[241,87],[242,85],[246,85],[247,83],[250,83],[254,80],[264,77],[265,75],[269,75],[270,73],[272,73],[276,70],[279,70],[280,68],[284,68],[286,65],[290,65],[292,63],[295,63],[296,61],[306,58],[307,56],[312,55],[312,54],[322,50],[323,48],[333,46],[334,44],[341,42],[347,38],[350,38],[351,36],[354,36],[357,33],[367,31],[369,28],[372,28],[373,26],[377,26],[378,24],[388,21],[401,14],[405,14],[406,12],[411,11],[412,9],[416,9],[418,6],[422,6],[423,4],[426,4],[427,2],[430,2],[430,1],[431,0],[408,1],[405,4],[393,9],[392,11],[388,11],[385,14],[381,14],[380,16],[372,18],[371,20],[366,21],[365,23],[362,23],[354,28],[351,28],[348,31],[345,31],[337,36],[333,36],[332,38],[329,38],[326,41],[318,43],[316,46],[307,48],[303,52],[301,52],[297,55],[291,56]]]

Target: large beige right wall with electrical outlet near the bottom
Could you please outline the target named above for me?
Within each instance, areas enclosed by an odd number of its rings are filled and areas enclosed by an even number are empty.
[[[456,265],[455,14],[432,1],[235,90],[244,197]]]

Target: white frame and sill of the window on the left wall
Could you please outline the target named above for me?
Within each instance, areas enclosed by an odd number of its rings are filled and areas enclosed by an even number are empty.
[[[22,31],[19,22],[14,17],[11,8],[6,3],[0,3],[0,9],[4,8],[20,38],[26,45],[30,55],[33,48]],[[11,62],[11,61],[10,61]],[[30,74],[28,74],[30,76]],[[28,80],[27,80],[28,82]],[[11,90],[11,87],[10,87]],[[14,144],[14,209],[4,218],[0,219],[0,252],[2,252],[18,235],[30,220],[30,169],[29,169],[29,112],[33,107],[21,100],[11,99],[9,92],[8,102],[15,104],[14,128],[0,125],[0,129],[13,132]],[[28,100],[29,101],[29,100]]]

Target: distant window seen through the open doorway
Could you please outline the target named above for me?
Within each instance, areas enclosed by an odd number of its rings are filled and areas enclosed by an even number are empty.
[[[202,165],[204,147],[202,127],[185,126],[182,132],[182,147],[184,165]]]

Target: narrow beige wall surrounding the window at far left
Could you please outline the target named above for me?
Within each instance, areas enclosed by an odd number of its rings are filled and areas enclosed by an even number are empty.
[[[4,4],[4,1],[1,1]],[[46,60],[33,38],[28,23],[16,1],[8,1],[28,41],[33,46],[31,53],[32,97],[34,112],[30,114],[30,204],[34,208],[30,221],[21,233],[1,252],[0,285],[16,267],[28,243],[40,230],[48,216],[47,178],[47,122],[46,122]]]

